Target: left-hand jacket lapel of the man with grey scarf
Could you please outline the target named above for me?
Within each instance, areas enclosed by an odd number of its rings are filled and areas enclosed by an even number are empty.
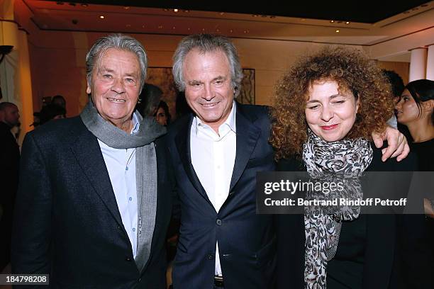
[[[91,186],[94,187],[104,205],[106,205],[111,215],[118,222],[118,225],[123,228],[121,214],[119,213],[118,204],[111,187],[109,172],[107,171],[96,137],[91,135],[83,125],[83,129],[79,132],[77,139],[75,142],[72,142],[71,149],[84,174],[88,177]]]

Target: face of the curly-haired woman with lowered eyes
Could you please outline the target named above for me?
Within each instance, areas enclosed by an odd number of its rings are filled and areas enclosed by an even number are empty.
[[[336,81],[316,81],[308,92],[305,115],[312,132],[326,142],[343,140],[355,123],[359,101]]]

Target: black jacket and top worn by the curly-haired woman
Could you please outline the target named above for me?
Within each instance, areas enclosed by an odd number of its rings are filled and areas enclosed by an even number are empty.
[[[416,169],[414,154],[401,162],[396,159],[382,162],[381,149],[372,147],[374,156],[367,171]],[[278,169],[306,170],[303,162],[296,159],[279,162]],[[327,288],[398,288],[398,284],[403,283],[398,257],[402,248],[398,243],[403,239],[399,219],[398,215],[360,215],[355,221],[344,222],[338,250],[334,259],[328,262]],[[288,288],[292,283],[294,288],[304,288],[304,218],[302,215],[279,215],[277,220],[277,287]],[[408,233],[411,234],[410,230]]]

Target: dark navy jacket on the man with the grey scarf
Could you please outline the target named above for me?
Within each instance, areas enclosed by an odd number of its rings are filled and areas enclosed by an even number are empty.
[[[79,117],[28,133],[13,228],[13,272],[50,273],[52,288],[165,288],[172,181],[164,140],[155,144],[157,215],[150,259],[139,272],[96,137]]]

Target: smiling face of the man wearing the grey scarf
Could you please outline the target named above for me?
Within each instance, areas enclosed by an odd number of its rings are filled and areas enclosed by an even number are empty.
[[[87,93],[102,118],[130,132],[131,116],[138,101],[140,65],[126,50],[109,49],[94,68]]]

